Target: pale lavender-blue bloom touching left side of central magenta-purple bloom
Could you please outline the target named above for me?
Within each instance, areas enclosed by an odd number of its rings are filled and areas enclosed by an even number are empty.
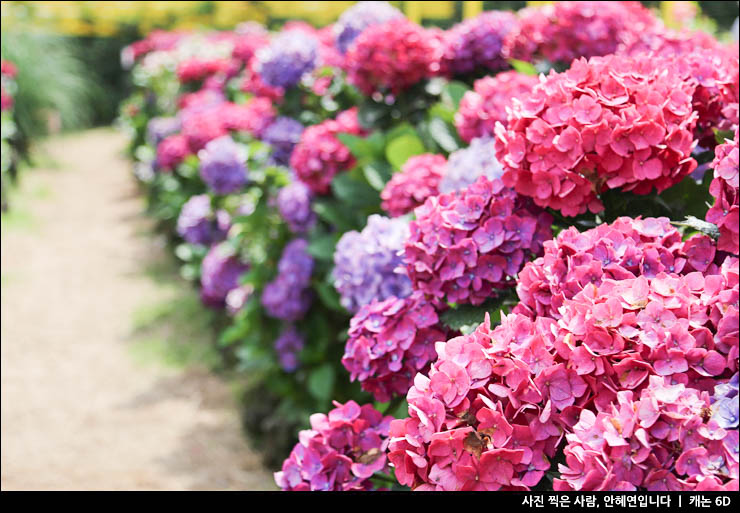
[[[409,235],[408,222],[371,215],[362,232],[342,235],[334,251],[334,287],[342,306],[356,313],[373,299],[411,294],[411,281],[396,272],[403,263],[399,252]]]

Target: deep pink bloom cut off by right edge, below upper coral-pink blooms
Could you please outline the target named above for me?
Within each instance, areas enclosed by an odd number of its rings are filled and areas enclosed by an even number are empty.
[[[707,221],[719,228],[717,249],[734,255],[740,254],[738,237],[740,237],[740,190],[738,179],[738,130],[735,138],[725,141],[714,151],[714,179],[709,185],[709,192],[714,196],[714,205],[707,212]]]

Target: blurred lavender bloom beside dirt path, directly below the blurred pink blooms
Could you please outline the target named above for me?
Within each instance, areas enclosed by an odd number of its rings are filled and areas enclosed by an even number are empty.
[[[230,136],[210,141],[198,158],[200,176],[216,194],[236,192],[247,183],[247,150]]]

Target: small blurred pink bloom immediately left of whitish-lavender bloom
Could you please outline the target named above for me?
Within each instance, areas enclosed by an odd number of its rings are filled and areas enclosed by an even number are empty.
[[[391,217],[413,211],[430,196],[439,194],[439,181],[447,160],[442,155],[425,153],[409,158],[380,193],[380,205]]]

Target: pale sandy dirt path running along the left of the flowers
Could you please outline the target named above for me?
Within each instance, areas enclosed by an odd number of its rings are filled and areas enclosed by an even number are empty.
[[[110,129],[57,137],[2,227],[2,489],[275,489],[227,384],[143,365],[132,319],[172,300]],[[55,168],[56,167],[56,168]],[[30,191],[30,192],[29,192]]]

